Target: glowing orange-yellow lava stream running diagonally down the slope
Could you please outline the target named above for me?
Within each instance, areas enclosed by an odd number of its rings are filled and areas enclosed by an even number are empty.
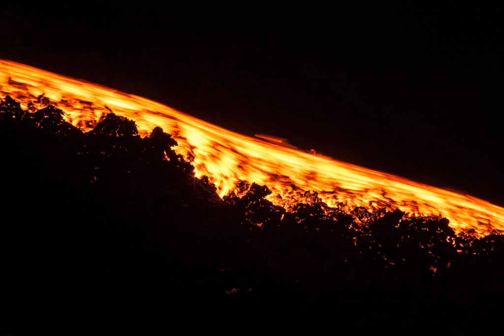
[[[155,126],[178,142],[176,152],[207,175],[221,196],[240,180],[266,184],[277,205],[299,191],[317,191],[329,206],[370,204],[414,216],[442,216],[457,232],[504,231],[504,209],[487,201],[303,152],[275,137],[249,138],[154,101],[31,66],[0,60],[0,92],[22,105],[41,102],[64,110],[68,121],[91,129],[108,112],[135,120],[141,135]],[[43,96],[42,96],[43,95]],[[47,102],[47,101],[46,101]],[[266,140],[263,140],[266,139]]]

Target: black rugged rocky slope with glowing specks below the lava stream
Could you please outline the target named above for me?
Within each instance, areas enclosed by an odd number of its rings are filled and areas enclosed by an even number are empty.
[[[4,334],[436,330],[499,321],[504,238],[448,220],[220,199],[160,128],[0,104]],[[261,225],[258,225],[262,223]],[[488,324],[489,323],[489,324]]]

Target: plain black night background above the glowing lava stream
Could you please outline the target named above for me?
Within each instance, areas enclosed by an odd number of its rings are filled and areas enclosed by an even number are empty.
[[[0,58],[504,206],[502,5],[9,5]]]

